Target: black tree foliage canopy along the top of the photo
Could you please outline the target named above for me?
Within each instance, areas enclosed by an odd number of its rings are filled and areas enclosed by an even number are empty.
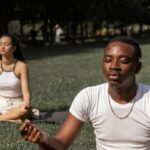
[[[3,24],[0,32],[7,31],[7,23],[15,18],[43,19],[54,22],[87,21],[128,25],[150,24],[149,0],[5,0],[0,6]]]

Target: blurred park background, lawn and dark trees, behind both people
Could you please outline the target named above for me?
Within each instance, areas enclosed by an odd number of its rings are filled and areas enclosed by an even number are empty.
[[[31,103],[42,111],[68,111],[76,94],[105,82],[105,42],[133,36],[143,59],[138,82],[150,84],[150,0],[5,0],[0,34],[19,38],[29,66]],[[34,122],[52,136],[61,124]],[[25,142],[19,124],[0,122],[0,150],[37,150]],[[88,122],[69,150],[95,150]]]

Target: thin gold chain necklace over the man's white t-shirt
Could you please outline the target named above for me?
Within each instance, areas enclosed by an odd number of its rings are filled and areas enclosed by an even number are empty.
[[[133,107],[134,107],[134,105],[135,105],[135,102],[136,102],[136,97],[134,98],[134,102],[133,102],[133,104],[132,104],[132,106],[131,106],[131,109],[129,110],[129,112],[127,113],[127,115],[125,115],[125,116],[123,116],[123,117],[118,116],[117,113],[116,113],[116,112],[114,111],[114,109],[112,108],[112,105],[111,105],[111,102],[110,102],[110,98],[109,98],[109,94],[108,94],[108,101],[109,101],[109,106],[110,106],[110,109],[111,109],[112,113],[113,113],[118,119],[125,119],[125,118],[127,118],[127,117],[131,114],[131,112],[132,112],[132,110],[133,110]]]

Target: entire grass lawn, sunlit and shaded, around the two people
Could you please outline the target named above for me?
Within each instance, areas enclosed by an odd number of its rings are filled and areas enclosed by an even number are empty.
[[[150,45],[143,44],[143,68],[137,80],[149,80]],[[40,110],[66,110],[75,95],[84,87],[105,81],[101,71],[103,45],[76,45],[24,48],[29,66],[31,102]],[[36,123],[50,136],[59,124]],[[19,125],[0,123],[0,150],[37,150],[35,144],[25,142],[19,134]],[[87,123],[70,150],[94,150],[95,137]]]

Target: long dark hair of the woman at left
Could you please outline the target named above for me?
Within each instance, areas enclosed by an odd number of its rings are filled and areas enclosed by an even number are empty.
[[[2,38],[4,36],[9,37],[11,39],[12,45],[16,46],[16,50],[14,51],[14,57],[18,60],[25,61],[25,59],[21,53],[19,40],[11,34],[2,34],[2,35],[0,35],[0,38]]]

